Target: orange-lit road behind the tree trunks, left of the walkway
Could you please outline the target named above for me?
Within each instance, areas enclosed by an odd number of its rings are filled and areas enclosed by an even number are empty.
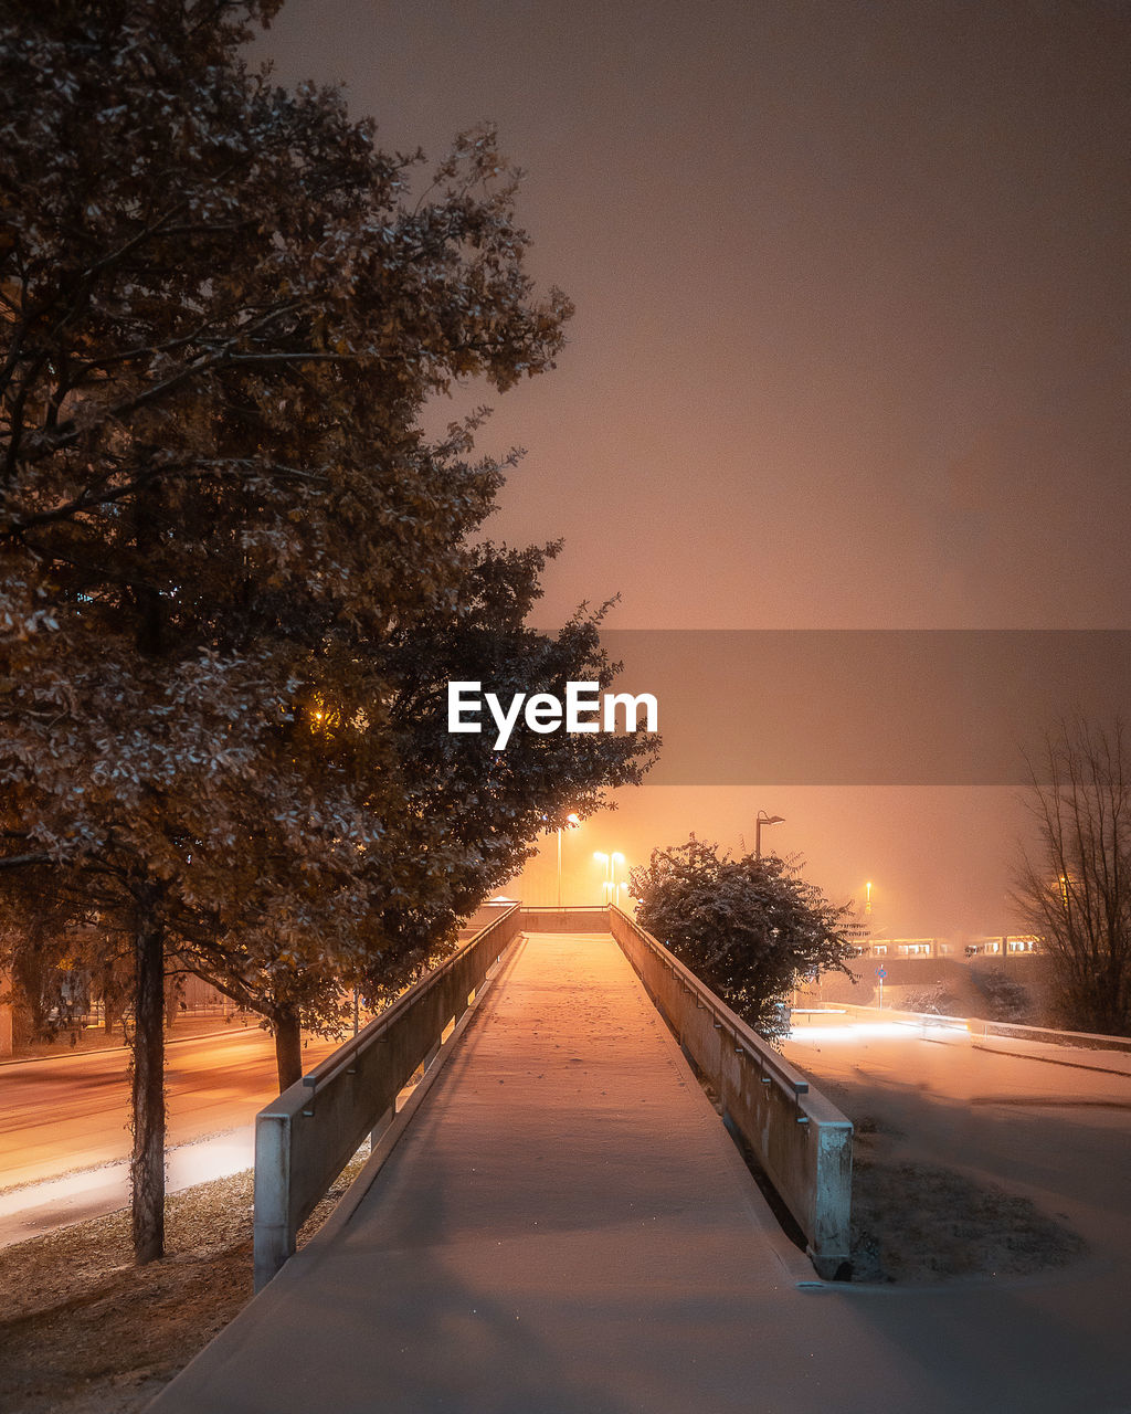
[[[336,1042],[310,1036],[308,1068]],[[129,1157],[129,1052],[95,1051],[0,1066],[0,1189]],[[168,1145],[246,1126],[279,1085],[259,1028],[175,1041],[167,1051]]]

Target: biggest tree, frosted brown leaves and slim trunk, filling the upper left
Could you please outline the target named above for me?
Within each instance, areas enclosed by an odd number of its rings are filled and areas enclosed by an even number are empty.
[[[414,194],[338,93],[247,72],[277,7],[45,0],[0,33],[0,877],[130,939],[140,1260],[167,956],[254,993],[293,1073],[303,1008],[393,970],[399,901],[443,880],[394,650],[458,619],[506,464],[420,414],[550,366],[568,314],[493,136]],[[433,921],[488,877],[435,882]]]

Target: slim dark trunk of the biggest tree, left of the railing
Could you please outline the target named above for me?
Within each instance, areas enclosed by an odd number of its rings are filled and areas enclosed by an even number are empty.
[[[143,1266],[165,1254],[165,937],[153,891],[134,921],[133,1254]]]

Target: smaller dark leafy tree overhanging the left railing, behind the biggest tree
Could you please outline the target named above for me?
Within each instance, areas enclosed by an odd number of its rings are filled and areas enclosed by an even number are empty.
[[[606,788],[638,783],[655,758],[656,738],[636,734],[532,734],[495,752],[491,735],[447,731],[450,680],[478,674],[503,694],[612,682],[601,611],[578,612],[557,633],[526,628],[544,556],[481,546],[458,605],[370,645],[386,683],[380,734],[396,766],[396,809],[379,813],[380,847],[351,853],[339,878],[277,880],[254,863],[263,841],[249,840],[252,853],[232,870],[229,916],[185,925],[185,966],[271,1022],[281,1086],[300,1075],[300,1018],[325,1034],[341,1029],[344,986],[380,1007],[444,954],[457,923],[520,868],[547,820],[590,814]],[[320,701],[310,728],[328,765],[342,769],[339,738],[348,749],[353,730]],[[365,764],[352,759],[348,779],[370,792],[376,812]]]

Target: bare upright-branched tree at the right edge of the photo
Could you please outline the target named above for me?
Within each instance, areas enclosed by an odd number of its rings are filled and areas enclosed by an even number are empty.
[[[1038,844],[1014,901],[1052,959],[1073,1029],[1131,1035],[1131,756],[1124,724],[1060,723],[1029,762]]]

